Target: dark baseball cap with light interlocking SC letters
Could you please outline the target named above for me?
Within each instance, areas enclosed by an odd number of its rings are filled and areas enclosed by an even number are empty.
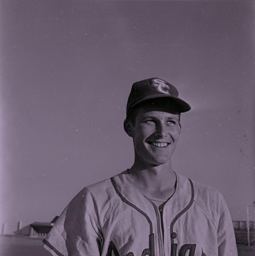
[[[191,106],[178,95],[178,90],[161,78],[153,77],[135,82],[127,100],[126,115],[141,102],[156,98],[169,99],[180,113],[191,110]]]

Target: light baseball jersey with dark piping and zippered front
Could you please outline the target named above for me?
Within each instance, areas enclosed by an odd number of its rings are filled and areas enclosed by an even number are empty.
[[[55,256],[238,256],[223,196],[177,173],[159,206],[127,171],[85,187],[42,246]]]

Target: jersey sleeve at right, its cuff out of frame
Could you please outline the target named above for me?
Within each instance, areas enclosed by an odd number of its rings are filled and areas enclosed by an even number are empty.
[[[218,255],[238,256],[234,227],[225,199],[220,194],[220,217],[217,229]]]

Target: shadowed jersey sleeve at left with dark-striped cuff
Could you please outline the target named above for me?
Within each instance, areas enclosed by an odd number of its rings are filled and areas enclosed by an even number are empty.
[[[85,188],[64,209],[42,246],[54,256],[99,256],[101,230],[97,205]]]

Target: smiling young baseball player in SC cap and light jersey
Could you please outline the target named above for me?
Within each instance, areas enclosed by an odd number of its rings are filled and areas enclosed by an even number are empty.
[[[79,192],[43,247],[58,256],[237,256],[223,196],[172,170],[180,113],[190,109],[160,78],[134,83],[124,121],[133,166]]]

